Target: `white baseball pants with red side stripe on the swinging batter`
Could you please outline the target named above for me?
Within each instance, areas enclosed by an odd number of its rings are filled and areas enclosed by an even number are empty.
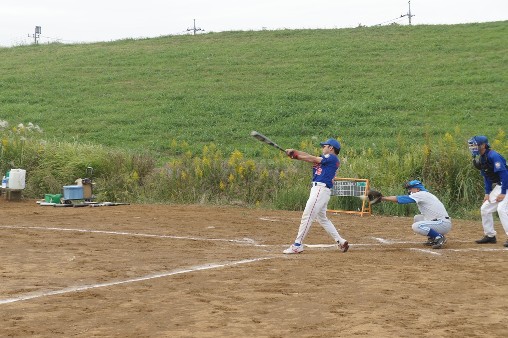
[[[312,186],[310,188],[309,199],[307,200],[305,209],[303,210],[302,220],[300,221],[300,228],[298,230],[298,236],[296,237],[295,243],[303,243],[303,239],[309,231],[310,224],[316,219],[335,241],[343,244],[344,240],[340,237],[333,223],[326,217],[326,210],[328,207],[328,201],[330,201],[331,190],[330,188],[327,188],[324,183],[317,184],[317,186]]]

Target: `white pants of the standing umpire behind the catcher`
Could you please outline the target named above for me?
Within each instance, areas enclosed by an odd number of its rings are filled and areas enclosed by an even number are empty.
[[[483,203],[482,208],[482,224],[483,231],[489,237],[495,236],[496,231],[494,230],[494,218],[492,213],[497,211],[499,221],[504,229],[504,232],[508,236],[508,197],[506,195],[501,202],[496,201],[497,195],[501,193],[501,186],[496,185],[489,194],[489,200]]]

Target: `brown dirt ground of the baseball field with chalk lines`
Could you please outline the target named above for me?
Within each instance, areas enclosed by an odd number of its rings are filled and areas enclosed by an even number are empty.
[[[282,250],[300,212],[53,208],[0,198],[2,337],[500,337],[508,249],[452,221],[441,249],[412,219],[329,213],[350,250]],[[313,223],[306,244],[333,244]]]

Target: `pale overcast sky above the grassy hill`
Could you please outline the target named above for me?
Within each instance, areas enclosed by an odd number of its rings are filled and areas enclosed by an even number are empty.
[[[111,41],[206,32],[281,28],[348,28],[408,24],[408,0],[3,0],[0,46]],[[9,5],[7,5],[9,3]],[[411,24],[508,20],[508,0],[411,0]],[[395,20],[396,19],[396,20]],[[29,38],[28,35],[31,37]]]

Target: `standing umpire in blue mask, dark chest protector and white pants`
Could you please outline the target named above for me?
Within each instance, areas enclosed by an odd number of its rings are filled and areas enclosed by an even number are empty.
[[[479,244],[495,243],[496,231],[492,217],[495,211],[497,211],[504,232],[508,236],[508,197],[506,197],[508,167],[506,160],[490,149],[490,144],[485,136],[472,137],[467,142],[467,146],[473,156],[474,167],[481,170],[480,173],[485,181],[485,197],[480,209],[485,237],[476,242]],[[503,243],[503,247],[508,248],[508,240]]]

